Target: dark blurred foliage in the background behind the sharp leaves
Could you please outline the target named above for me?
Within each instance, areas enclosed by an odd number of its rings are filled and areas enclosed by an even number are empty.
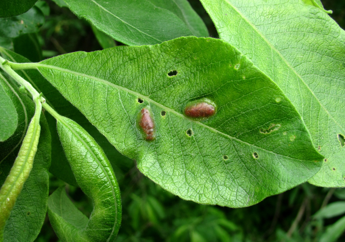
[[[198,0],[189,2],[203,18],[210,36],[218,38],[201,3]],[[333,10],[331,17],[344,28],[345,1],[322,2],[326,10]],[[19,29],[11,33],[12,36],[0,34],[0,45],[31,61],[121,45],[63,6],[61,0],[38,1],[34,6],[38,12],[35,18],[43,16],[45,19],[36,26],[38,32]],[[119,162],[114,167],[123,205],[118,242],[345,241],[345,188],[320,188],[305,183],[256,205],[232,209],[184,201],[144,177],[135,161],[121,156],[108,158]],[[50,194],[65,184],[51,175]],[[67,192],[76,206],[89,216],[91,200],[75,186],[67,185]],[[36,241],[59,241],[48,217]]]

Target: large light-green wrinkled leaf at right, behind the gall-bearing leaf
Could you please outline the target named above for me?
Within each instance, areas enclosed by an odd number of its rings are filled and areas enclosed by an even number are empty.
[[[345,186],[345,32],[302,1],[201,0],[219,36],[233,44],[294,104],[325,162],[309,180]]]

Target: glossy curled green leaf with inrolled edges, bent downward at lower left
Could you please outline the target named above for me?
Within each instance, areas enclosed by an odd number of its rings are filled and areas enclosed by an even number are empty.
[[[76,241],[113,241],[121,223],[121,197],[114,171],[100,146],[76,122],[60,116],[57,129],[76,180],[93,201],[90,219],[85,228],[77,230],[80,240]],[[60,239],[76,231],[70,221],[56,218],[54,215],[52,225]],[[74,241],[73,237],[67,241]]]

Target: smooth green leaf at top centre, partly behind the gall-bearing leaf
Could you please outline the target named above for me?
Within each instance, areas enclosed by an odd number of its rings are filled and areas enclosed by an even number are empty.
[[[128,44],[157,44],[180,36],[207,37],[201,18],[186,0],[65,0],[79,17]]]

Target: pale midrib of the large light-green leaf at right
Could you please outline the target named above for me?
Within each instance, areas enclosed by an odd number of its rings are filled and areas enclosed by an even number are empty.
[[[296,72],[296,70],[290,65],[290,63],[282,56],[282,54],[268,41],[268,39],[266,39],[266,37],[256,28],[256,26],[250,22],[243,14],[242,12],[240,12],[235,6],[233,6],[233,4],[231,4],[228,0],[224,0],[226,1],[231,8],[233,8],[239,15],[240,17],[243,18],[243,20],[245,22],[247,22],[249,24],[249,26],[251,26],[253,28],[253,30],[255,32],[257,32],[259,34],[259,36],[261,38],[263,38],[263,40],[268,44],[269,47],[271,47],[272,50],[274,50],[278,56],[282,59],[282,61],[287,65],[287,67],[289,69],[291,69],[295,74],[296,76],[298,77],[298,79],[307,87],[307,89],[312,93],[313,97],[317,100],[317,102],[319,103],[320,107],[325,110],[325,112],[328,114],[328,116],[333,120],[333,122],[338,125],[338,127],[343,131],[345,132],[345,130],[343,129],[343,127],[333,118],[333,115],[331,113],[328,112],[328,110],[324,107],[324,105],[320,102],[320,100],[317,99],[316,95],[314,94],[314,92],[309,88],[309,86],[307,85],[307,83],[304,82],[304,80],[302,79],[302,77]],[[262,70],[262,69],[260,69]],[[263,70],[262,70],[263,71]],[[263,71],[264,72],[264,71]],[[266,73],[265,73],[266,74]],[[267,75],[267,74],[266,74]],[[267,75],[269,76],[269,75]]]

